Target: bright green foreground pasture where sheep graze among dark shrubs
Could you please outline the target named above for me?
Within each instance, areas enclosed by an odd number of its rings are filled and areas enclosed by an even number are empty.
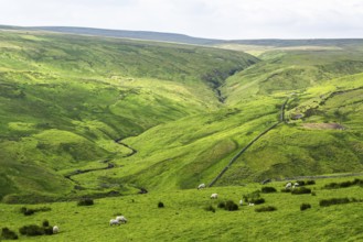
[[[24,205],[0,204],[0,224],[17,232],[19,241],[361,241],[362,187],[324,188],[330,183],[352,180],[354,177],[317,179],[314,185],[306,186],[314,196],[281,193],[286,183],[271,183],[266,186],[276,188],[277,193],[260,194],[265,204],[247,206],[244,202],[235,211],[218,208],[218,204],[227,200],[238,204],[244,195],[260,190],[263,186],[151,191],[97,199],[88,207],[78,207],[76,201],[25,205],[28,209],[49,209],[26,217],[20,212]],[[216,200],[210,198],[212,193],[218,194]],[[329,207],[319,205],[331,198],[355,198],[356,201]],[[164,208],[158,208],[160,201]],[[309,204],[311,208],[301,211],[302,204]],[[267,206],[277,210],[255,211]],[[211,207],[215,212],[205,210]],[[128,222],[110,227],[109,220],[120,213]],[[45,219],[50,224],[58,226],[60,233],[19,234],[19,228],[41,226]]]

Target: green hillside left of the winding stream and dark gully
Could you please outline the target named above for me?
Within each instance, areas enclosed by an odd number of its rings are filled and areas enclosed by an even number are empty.
[[[1,31],[0,48],[0,197],[18,194],[12,201],[74,193],[81,187],[65,175],[132,153],[116,140],[217,110],[216,88],[258,62],[215,48],[29,31]]]

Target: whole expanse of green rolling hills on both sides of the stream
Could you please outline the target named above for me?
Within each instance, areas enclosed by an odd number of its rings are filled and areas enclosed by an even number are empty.
[[[0,28],[4,202],[194,188],[225,167],[215,186],[363,169],[363,41],[44,30]]]

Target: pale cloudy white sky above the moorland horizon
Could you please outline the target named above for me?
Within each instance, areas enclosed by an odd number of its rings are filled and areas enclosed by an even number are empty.
[[[363,0],[0,0],[0,24],[222,40],[363,37]]]

